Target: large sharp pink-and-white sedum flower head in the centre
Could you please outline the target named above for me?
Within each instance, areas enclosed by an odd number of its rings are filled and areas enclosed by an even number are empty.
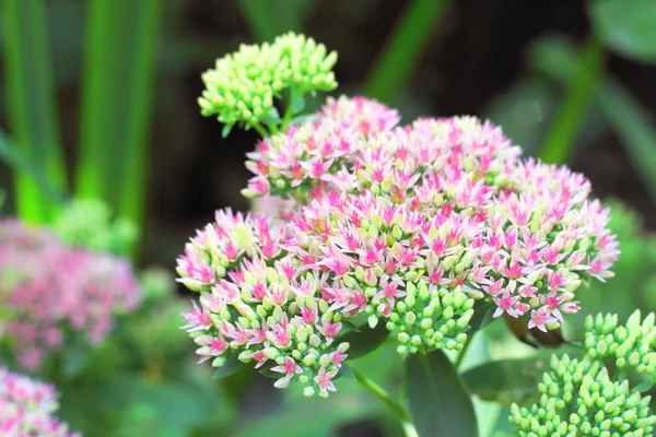
[[[178,260],[201,291],[185,327],[201,361],[273,361],[278,386],[327,394],[347,319],[384,322],[402,354],[458,350],[476,299],[553,329],[583,282],[612,275],[618,245],[587,179],[520,161],[492,123],[397,127],[396,110],[362,97],[319,117],[248,154],[246,194],[292,201],[283,220],[219,212]]]

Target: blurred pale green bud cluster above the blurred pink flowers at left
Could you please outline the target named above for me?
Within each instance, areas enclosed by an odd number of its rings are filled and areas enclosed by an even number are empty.
[[[137,237],[131,222],[112,221],[109,208],[93,199],[73,200],[57,217],[55,233],[69,247],[116,255],[126,255]]]

